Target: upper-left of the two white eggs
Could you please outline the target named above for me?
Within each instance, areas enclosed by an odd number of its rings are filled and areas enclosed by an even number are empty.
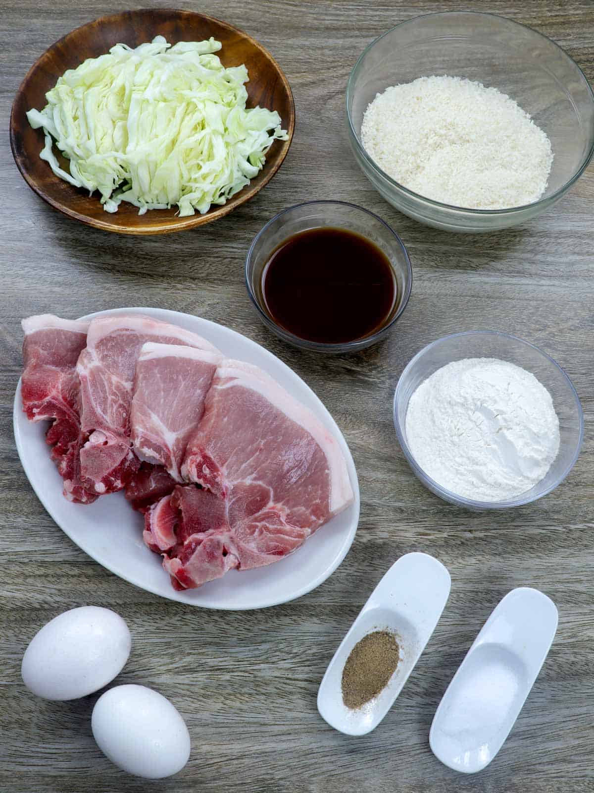
[[[44,699],[78,699],[111,682],[128,661],[130,647],[128,626],[115,611],[73,608],[35,634],[21,676]]]

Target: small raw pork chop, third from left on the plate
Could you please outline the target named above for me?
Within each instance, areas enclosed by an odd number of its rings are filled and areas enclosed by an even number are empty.
[[[130,412],[136,456],[163,465],[178,482],[192,432],[204,413],[218,354],[176,344],[143,344]]]

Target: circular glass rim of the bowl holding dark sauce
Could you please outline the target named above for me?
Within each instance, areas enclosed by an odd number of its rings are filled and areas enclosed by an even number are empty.
[[[363,212],[366,215],[370,215],[371,217],[374,217],[375,220],[379,220],[379,222],[383,226],[385,226],[387,228],[387,230],[390,232],[390,234],[394,237],[398,247],[400,247],[400,249],[402,251],[402,254],[404,255],[404,260],[406,262],[406,272],[408,274],[408,282],[407,282],[407,285],[406,285],[405,292],[402,295],[402,300],[400,301],[400,305],[398,306],[398,311],[394,314],[394,316],[392,317],[392,319],[390,320],[390,322],[388,324],[383,325],[383,328],[380,328],[379,331],[375,331],[375,333],[372,333],[371,335],[364,336],[363,339],[353,339],[351,342],[337,342],[337,343],[314,342],[314,341],[311,341],[310,339],[302,339],[301,336],[296,336],[294,333],[291,333],[291,331],[287,331],[285,328],[282,328],[279,324],[276,324],[276,322],[274,320],[272,320],[272,317],[268,316],[268,314],[261,307],[259,301],[257,301],[257,297],[253,293],[252,285],[249,282],[249,274],[248,274],[249,264],[250,264],[250,262],[252,260],[253,249],[256,246],[256,243],[257,243],[258,239],[260,239],[261,236],[265,235],[265,232],[267,231],[268,227],[272,223],[274,223],[274,221],[277,220],[279,217],[282,217],[287,212],[292,212],[295,209],[300,209],[302,206],[310,206],[310,205],[314,205],[314,204],[317,204],[317,205],[319,205],[319,204],[326,204],[326,205],[331,204],[331,205],[334,205],[334,206],[336,206],[336,205],[348,206],[351,209],[356,209],[359,212]],[[299,233],[299,232],[297,232],[297,233]],[[356,351],[356,349],[360,345],[362,345],[362,348],[371,347],[371,344],[374,343],[375,339],[377,339],[378,337],[382,337],[383,338],[383,335],[385,335],[386,332],[392,327],[394,322],[396,322],[396,320],[398,320],[398,317],[402,315],[402,312],[404,311],[404,309],[408,305],[410,293],[411,293],[411,291],[413,289],[413,267],[410,264],[409,252],[406,250],[406,245],[402,242],[402,239],[400,239],[398,234],[396,232],[394,232],[394,229],[390,225],[388,225],[385,220],[382,220],[382,218],[379,215],[376,215],[375,213],[370,212],[369,209],[365,209],[364,207],[359,206],[357,204],[352,204],[350,201],[333,201],[332,199],[323,199],[323,198],[319,199],[318,201],[315,201],[315,200],[314,201],[302,201],[300,204],[294,204],[292,206],[287,206],[286,209],[282,209],[280,212],[277,212],[276,215],[271,217],[270,220],[268,220],[268,223],[266,223],[264,226],[262,226],[260,231],[257,232],[257,235],[253,238],[252,243],[249,246],[249,251],[247,252],[247,255],[246,255],[246,266],[244,268],[244,275],[245,275],[245,278],[246,278],[246,289],[247,289],[248,294],[249,294],[249,299],[252,301],[253,305],[255,305],[255,307],[257,308],[257,311],[261,315],[261,317],[263,317],[263,319],[265,320],[265,324],[270,324],[270,325],[274,326],[274,328],[276,328],[276,330],[279,331],[280,335],[282,337],[284,337],[284,339],[287,339],[287,341],[290,341],[291,343],[293,343],[293,341],[295,340],[295,343],[299,343],[299,346],[307,347],[310,350],[337,350],[337,349],[341,349],[341,350],[348,351],[348,349],[350,348],[350,349]]]

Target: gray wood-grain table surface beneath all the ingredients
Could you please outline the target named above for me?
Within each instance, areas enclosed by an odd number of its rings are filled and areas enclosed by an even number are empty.
[[[158,3],[143,0],[145,6]],[[166,4],[161,4],[166,5]],[[585,791],[594,790],[592,623],[592,305],[594,168],[550,212],[521,228],[456,236],[425,228],[375,193],[345,132],[348,72],[364,46],[398,21],[436,10],[492,10],[561,44],[594,80],[594,6],[586,0],[481,2],[179,2],[255,36],[295,94],[295,140],[257,197],[215,224],[179,235],[110,236],[67,220],[14,166],[10,105],[31,63],[54,40],[129,0],[0,0],[0,791]],[[243,261],[272,214],[298,201],[341,198],[378,213],[413,262],[413,297],[386,343],[352,357],[287,347],[260,324]],[[173,308],[223,323],[278,355],[329,408],[360,477],[361,519],[341,567],[309,595],[269,610],[204,611],[143,592],[83,554],[46,514],[13,441],[21,317],[76,317],[119,306]],[[565,367],[580,394],[586,440],[552,495],[516,511],[472,514],[413,477],[391,417],[394,386],[421,347],[474,328],[511,331]],[[318,715],[322,674],[386,569],[412,550],[451,571],[451,597],[431,642],[381,726],[346,737]],[[455,668],[509,589],[534,586],[559,609],[557,638],[504,749],[478,776],[452,772],[428,746],[432,716]],[[133,634],[116,682],[152,686],[188,722],[183,772],[148,783],[118,771],[93,742],[96,696],[36,699],[20,662],[60,611],[95,603]]]

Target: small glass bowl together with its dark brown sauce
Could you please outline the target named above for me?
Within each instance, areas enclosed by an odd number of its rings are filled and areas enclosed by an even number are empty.
[[[283,341],[353,353],[386,337],[409,301],[413,270],[402,239],[346,201],[305,201],[253,238],[246,287],[262,322]]]

